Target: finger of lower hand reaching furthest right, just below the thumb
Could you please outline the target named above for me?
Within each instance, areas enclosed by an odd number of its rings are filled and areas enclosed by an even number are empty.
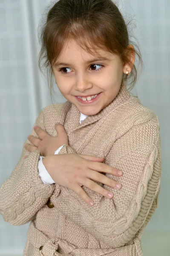
[[[112,174],[112,175],[118,176],[118,177],[123,175],[123,172],[121,170],[119,170],[117,168],[113,168],[105,163],[98,163],[98,162],[90,161],[88,167],[89,167],[89,169],[92,169],[94,171],[105,172],[105,173],[109,173],[109,174]]]

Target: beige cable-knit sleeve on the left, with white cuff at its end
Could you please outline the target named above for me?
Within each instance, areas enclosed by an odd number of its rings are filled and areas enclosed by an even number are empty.
[[[40,111],[35,125],[45,130],[43,110]],[[37,137],[34,128],[31,134]],[[29,140],[25,143],[32,145]],[[23,159],[26,155],[28,157]],[[39,150],[29,152],[23,147],[20,160],[0,188],[0,214],[4,221],[12,225],[23,225],[35,218],[37,211],[46,204],[55,186],[58,186],[57,184],[46,185],[40,179],[38,175],[39,157]],[[57,189],[60,187],[58,186]]]

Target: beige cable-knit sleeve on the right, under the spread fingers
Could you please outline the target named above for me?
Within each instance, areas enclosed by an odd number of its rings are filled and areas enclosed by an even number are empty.
[[[150,120],[134,125],[113,143],[105,161],[109,166],[122,170],[121,177],[106,174],[120,182],[121,189],[102,184],[113,192],[113,198],[109,199],[83,186],[94,201],[94,206],[90,207],[75,192],[61,187],[59,211],[107,246],[124,246],[158,206],[155,201],[161,179],[160,145],[158,123]],[[73,152],[67,146],[65,152],[59,154]],[[155,205],[154,209],[151,209],[152,205]]]

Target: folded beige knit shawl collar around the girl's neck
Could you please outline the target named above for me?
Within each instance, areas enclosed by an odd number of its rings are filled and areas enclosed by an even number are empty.
[[[97,122],[102,117],[106,116],[107,113],[109,113],[110,111],[113,111],[114,108],[118,107],[119,105],[122,105],[128,99],[130,99],[130,92],[127,90],[127,87],[125,86],[124,82],[122,82],[118,95],[115,97],[115,99],[96,115],[87,116],[86,119],[84,119],[83,122],[81,122],[81,124],[80,124],[81,112],[78,110],[78,108],[74,104],[72,104],[69,101],[66,101],[63,104],[63,108],[61,109],[60,123],[64,125],[66,113],[67,111],[69,111],[69,120],[68,120],[69,131],[70,132],[75,131],[77,129],[83,128],[86,125],[90,125],[94,122]]]

